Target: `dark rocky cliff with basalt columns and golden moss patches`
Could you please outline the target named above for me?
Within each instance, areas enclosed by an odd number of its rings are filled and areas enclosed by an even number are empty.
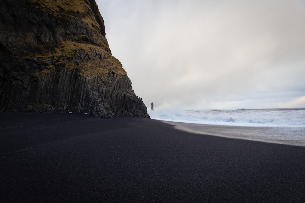
[[[95,0],[0,1],[0,110],[149,117]]]

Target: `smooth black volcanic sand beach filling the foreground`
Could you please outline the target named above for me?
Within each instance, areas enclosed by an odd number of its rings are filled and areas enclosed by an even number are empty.
[[[161,121],[0,113],[0,202],[304,202],[305,147]]]

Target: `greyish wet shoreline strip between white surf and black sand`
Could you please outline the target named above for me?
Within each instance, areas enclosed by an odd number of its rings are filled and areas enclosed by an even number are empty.
[[[178,130],[200,135],[212,135],[224,138],[244,139],[303,147],[305,146],[305,127],[229,126],[160,121],[173,125]]]

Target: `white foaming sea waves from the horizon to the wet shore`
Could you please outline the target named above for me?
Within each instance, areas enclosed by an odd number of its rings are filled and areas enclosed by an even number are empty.
[[[183,123],[254,126],[305,127],[305,108],[239,110],[154,110],[152,119]]]

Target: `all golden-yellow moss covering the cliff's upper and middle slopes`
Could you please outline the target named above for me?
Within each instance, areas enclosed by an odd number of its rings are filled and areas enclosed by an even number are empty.
[[[98,12],[98,8],[95,7],[96,5],[90,5],[89,2],[84,0],[30,0],[30,2],[36,9],[47,12],[57,19],[65,18],[71,21],[82,21],[92,30],[93,37],[95,38],[93,40],[92,36],[78,34],[73,36],[74,41],[85,41],[91,42],[92,44],[62,41],[60,44],[54,44],[55,48],[51,49],[44,45],[37,45],[36,47],[40,51],[24,57],[36,58],[47,66],[45,70],[35,73],[36,75],[53,72],[56,68],[77,68],[86,75],[102,73],[102,75],[106,76],[110,70],[116,72],[118,75],[126,75],[120,61],[111,55],[107,39],[101,33],[101,27],[98,22],[102,22],[103,24],[103,19]],[[97,19],[95,19],[96,17]],[[103,57],[102,60],[94,57],[86,61],[77,60],[77,55],[80,52],[83,53],[84,50],[89,53],[98,50],[106,57]]]

